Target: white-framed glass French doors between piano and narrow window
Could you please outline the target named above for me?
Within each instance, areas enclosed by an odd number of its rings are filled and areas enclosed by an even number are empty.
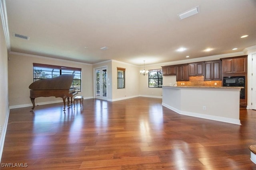
[[[107,67],[103,68],[96,68],[95,69],[95,98],[96,99],[103,99],[107,100],[107,85],[108,85],[108,78],[107,78]]]

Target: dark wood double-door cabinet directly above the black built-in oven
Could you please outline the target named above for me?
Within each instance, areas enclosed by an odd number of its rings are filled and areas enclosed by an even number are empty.
[[[247,55],[222,59],[222,74],[247,73]]]

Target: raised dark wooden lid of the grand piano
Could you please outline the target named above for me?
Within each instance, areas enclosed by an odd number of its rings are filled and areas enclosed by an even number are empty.
[[[69,90],[74,76],[74,74],[62,74],[54,78],[37,80],[30,84],[28,88],[31,90]]]

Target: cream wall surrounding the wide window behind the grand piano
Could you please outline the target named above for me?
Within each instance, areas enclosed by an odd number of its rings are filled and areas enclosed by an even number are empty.
[[[22,53],[9,53],[8,55],[8,87],[10,108],[32,106],[30,101],[30,89],[28,86],[33,82],[33,63],[51,64],[82,68],[82,91],[78,95],[84,98],[93,98],[92,64],[84,64],[66,60],[51,59]],[[37,104],[49,104],[62,102],[62,98],[40,97],[35,99]]]

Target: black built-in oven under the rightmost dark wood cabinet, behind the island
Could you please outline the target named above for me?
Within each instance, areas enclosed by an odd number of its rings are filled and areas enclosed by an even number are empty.
[[[223,77],[223,86],[244,87],[240,91],[240,99],[245,99],[245,76],[229,76]]]

